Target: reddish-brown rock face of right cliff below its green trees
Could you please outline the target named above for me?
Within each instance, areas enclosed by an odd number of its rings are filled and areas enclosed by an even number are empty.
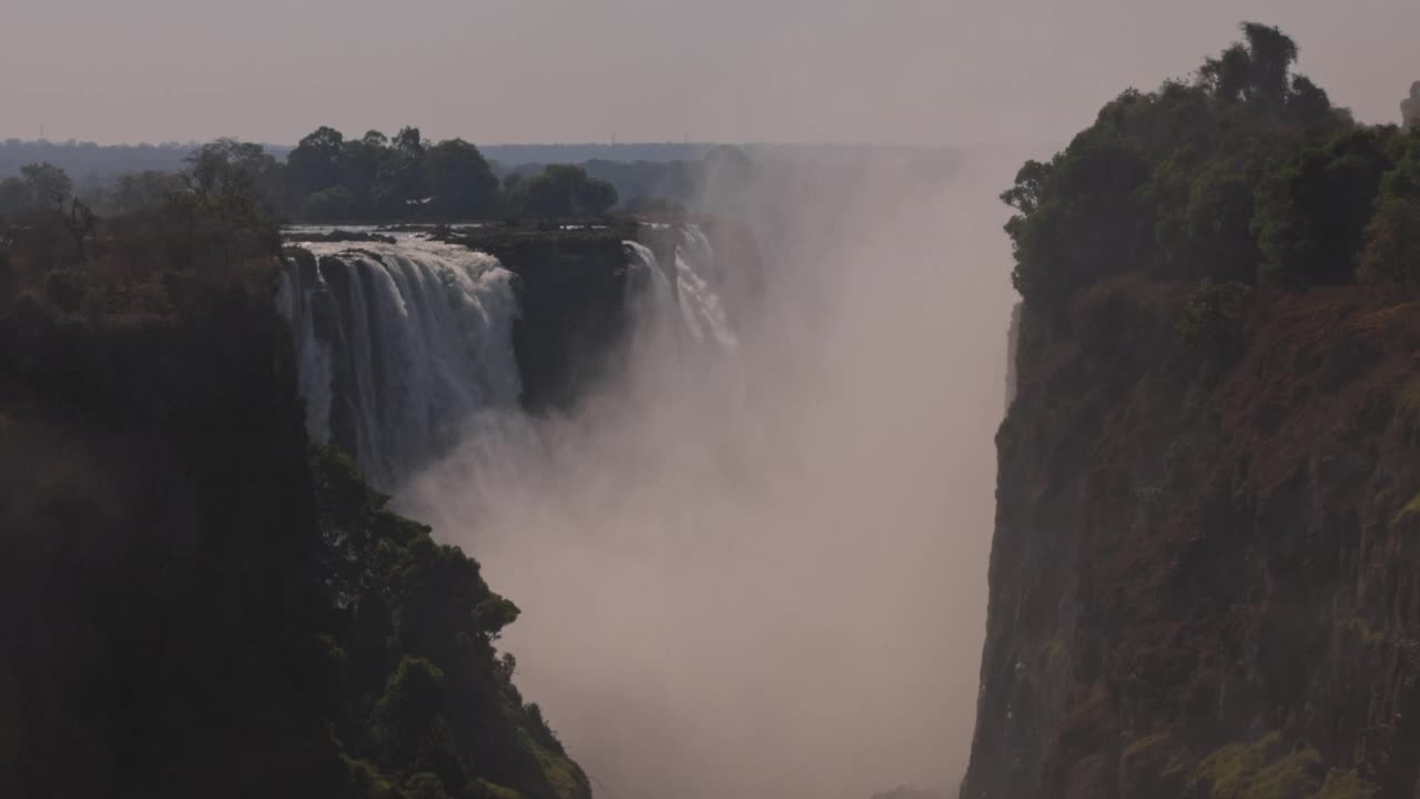
[[[1420,304],[1191,300],[1022,309],[964,799],[1420,795]]]

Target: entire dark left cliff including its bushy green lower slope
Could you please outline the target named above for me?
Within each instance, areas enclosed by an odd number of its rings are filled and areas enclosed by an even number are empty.
[[[0,307],[0,796],[589,796],[517,608],[308,449],[275,274]]]

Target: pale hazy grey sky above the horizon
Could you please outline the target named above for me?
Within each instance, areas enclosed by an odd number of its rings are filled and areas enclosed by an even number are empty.
[[[4,0],[0,138],[1055,142],[1242,18],[1362,119],[1416,0]]]

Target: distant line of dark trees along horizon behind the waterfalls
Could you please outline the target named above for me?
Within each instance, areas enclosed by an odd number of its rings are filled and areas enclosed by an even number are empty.
[[[273,216],[297,222],[598,216],[618,206],[682,210],[706,186],[710,171],[743,179],[750,168],[737,148],[717,146],[696,161],[595,159],[500,169],[473,144],[432,142],[417,128],[346,138],[322,127],[290,149],[233,139],[116,148],[136,154],[133,162],[145,168],[106,178],[89,171],[78,181],[74,165],[95,163],[95,154],[109,148],[7,142],[0,149],[54,155],[23,162],[0,179],[0,213],[61,198],[80,199],[98,213],[128,213],[182,191],[185,171],[220,161],[246,175],[253,196]]]

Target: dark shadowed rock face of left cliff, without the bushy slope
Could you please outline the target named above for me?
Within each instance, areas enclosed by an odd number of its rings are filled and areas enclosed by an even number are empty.
[[[341,785],[284,327],[241,291],[0,313],[0,793]]]

